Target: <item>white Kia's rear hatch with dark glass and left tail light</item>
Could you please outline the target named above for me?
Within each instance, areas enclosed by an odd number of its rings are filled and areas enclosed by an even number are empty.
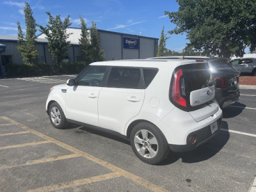
[[[214,97],[215,88],[207,63],[199,61],[175,68],[170,100],[177,108],[188,111],[198,122],[218,111]]]

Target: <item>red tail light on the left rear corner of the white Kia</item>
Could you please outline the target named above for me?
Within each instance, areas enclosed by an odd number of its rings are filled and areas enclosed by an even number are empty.
[[[184,78],[182,77],[182,69],[177,70],[174,75],[173,84],[172,84],[172,99],[174,102],[180,106],[186,107],[186,99],[182,96],[185,96],[185,83]]]

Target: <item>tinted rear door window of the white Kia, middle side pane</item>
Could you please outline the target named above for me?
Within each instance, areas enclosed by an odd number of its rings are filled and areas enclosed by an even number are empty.
[[[108,87],[138,88],[140,84],[140,68],[113,67],[109,74]]]

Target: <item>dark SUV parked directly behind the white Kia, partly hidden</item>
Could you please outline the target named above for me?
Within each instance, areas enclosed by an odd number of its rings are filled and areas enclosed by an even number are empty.
[[[221,108],[234,104],[240,98],[240,72],[232,67],[226,58],[209,58],[206,56],[164,56],[148,58],[148,60],[205,60],[209,64],[216,90],[216,100]]]

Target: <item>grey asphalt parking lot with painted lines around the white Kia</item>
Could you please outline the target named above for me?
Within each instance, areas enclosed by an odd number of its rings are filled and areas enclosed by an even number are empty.
[[[72,77],[0,80],[0,191],[256,191],[256,90],[241,89],[212,140],[153,166],[108,132],[52,127],[49,89]]]

